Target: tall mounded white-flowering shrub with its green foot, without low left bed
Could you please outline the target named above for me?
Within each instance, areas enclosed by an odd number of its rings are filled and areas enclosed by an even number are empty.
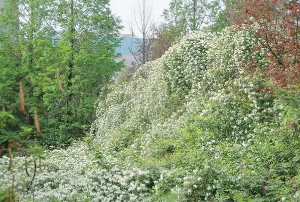
[[[298,196],[289,183],[271,177],[296,177],[297,169],[274,155],[283,147],[273,146],[286,145],[285,136],[296,130],[284,121],[290,102],[265,91],[272,86],[262,70],[270,61],[258,43],[233,28],[217,36],[194,32],[141,67],[132,81],[103,94],[92,129],[96,141],[127,163],[150,161],[160,168],[151,201],[169,191],[179,201],[230,201],[236,192],[270,202]],[[292,148],[287,155],[296,157]],[[290,173],[270,171],[263,161]]]

